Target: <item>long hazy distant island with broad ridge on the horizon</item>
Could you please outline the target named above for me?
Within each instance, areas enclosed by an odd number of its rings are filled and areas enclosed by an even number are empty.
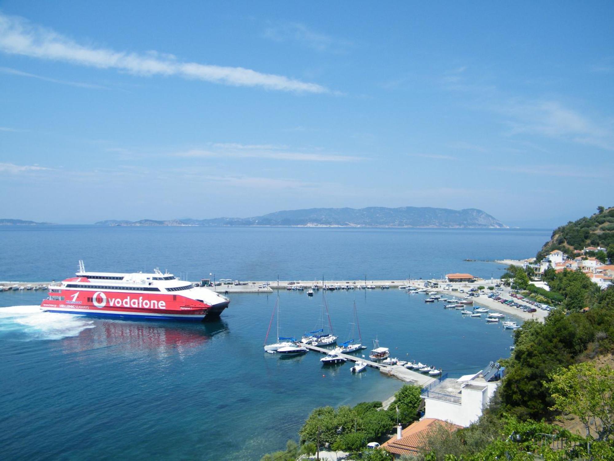
[[[100,226],[293,226],[293,227],[443,227],[495,228],[508,226],[476,208],[450,210],[430,207],[309,208],[276,211],[252,218],[98,221]]]

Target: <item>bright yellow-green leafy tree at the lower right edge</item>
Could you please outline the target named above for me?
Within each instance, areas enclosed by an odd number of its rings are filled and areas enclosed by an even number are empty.
[[[578,417],[597,440],[614,433],[614,369],[578,363],[550,374],[546,387],[552,393],[552,409]]]

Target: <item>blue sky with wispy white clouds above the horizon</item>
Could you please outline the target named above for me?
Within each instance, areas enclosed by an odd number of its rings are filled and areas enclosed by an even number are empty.
[[[0,2],[1,218],[614,205],[614,3]]]

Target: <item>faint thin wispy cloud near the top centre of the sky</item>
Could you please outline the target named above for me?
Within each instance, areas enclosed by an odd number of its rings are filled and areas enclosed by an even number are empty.
[[[276,42],[294,41],[322,52],[343,53],[351,45],[347,40],[309,29],[297,22],[274,22],[265,28],[264,36]]]

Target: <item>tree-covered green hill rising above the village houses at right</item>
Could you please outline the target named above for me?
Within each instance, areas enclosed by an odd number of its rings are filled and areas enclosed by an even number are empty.
[[[554,229],[550,240],[537,253],[537,261],[553,250],[572,254],[573,250],[582,250],[587,246],[608,248],[610,245],[614,245],[614,207],[597,207],[597,213],[593,216],[569,221]]]

